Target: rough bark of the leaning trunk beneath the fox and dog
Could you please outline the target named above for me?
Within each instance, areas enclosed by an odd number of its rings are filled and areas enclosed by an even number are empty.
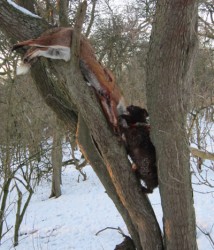
[[[9,8],[7,5],[6,2],[0,0],[0,7]],[[15,19],[14,16],[16,16],[17,11],[11,8],[8,11],[12,13],[9,13],[9,18],[13,16],[13,19]],[[31,29],[30,19],[26,23],[26,27],[20,28],[20,32],[16,32],[18,26],[12,25],[8,33],[5,30],[7,17],[2,15],[2,12],[0,13],[0,28],[5,31],[8,37],[18,40],[30,37],[28,33],[28,29]],[[34,23],[35,18],[32,19]],[[12,22],[12,20],[10,21]],[[38,19],[38,23],[35,25],[37,27],[35,34],[31,32],[31,37],[38,35],[40,21]],[[16,25],[18,24],[16,23]],[[41,27],[45,27],[45,25],[42,24]],[[47,64],[47,61],[50,63]],[[48,71],[46,70],[47,66]],[[50,78],[52,74],[57,76],[58,81]],[[117,201],[120,200],[122,202],[121,208],[123,204],[124,209],[128,211],[131,223],[138,232],[141,247],[146,250],[163,249],[160,228],[151,204],[148,197],[141,192],[139,182],[130,171],[131,166],[123,143],[114,135],[107,124],[95,93],[85,84],[78,67],[72,65],[72,61],[64,63],[40,59],[32,67],[31,75],[46,103],[68,126],[76,123],[77,112],[84,118],[116,189],[119,197]]]

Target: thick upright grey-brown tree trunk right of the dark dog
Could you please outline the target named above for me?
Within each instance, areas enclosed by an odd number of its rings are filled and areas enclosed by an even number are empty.
[[[147,63],[147,102],[158,159],[166,249],[197,249],[186,136],[197,1],[159,0]]]

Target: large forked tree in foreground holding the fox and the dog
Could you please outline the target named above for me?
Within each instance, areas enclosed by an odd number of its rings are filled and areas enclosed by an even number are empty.
[[[80,5],[83,8],[80,10],[83,12],[84,4],[85,2]],[[21,13],[6,1],[0,0],[0,8],[0,29],[12,42],[36,37],[42,31],[50,28],[44,19]],[[151,112],[152,127],[154,126],[153,141],[157,147],[158,161],[161,162],[159,166],[163,166],[160,167],[159,171],[164,204],[165,247],[167,249],[196,249],[189,157],[185,138],[186,106],[181,106],[187,103],[186,100],[179,103],[185,97],[182,91],[186,89],[190,79],[189,64],[193,55],[190,44],[194,40],[192,40],[194,38],[192,25],[196,20],[196,3],[195,1],[159,0],[156,12],[147,70],[148,106]],[[171,16],[170,13],[172,13]],[[46,103],[68,127],[71,129],[76,127],[78,116],[77,134],[82,152],[123,216],[136,248],[164,249],[161,231],[151,204],[148,197],[141,192],[140,184],[130,171],[130,163],[123,144],[108,126],[95,93],[85,84],[80,73],[78,44],[82,18],[83,15],[76,16],[76,35],[74,35],[71,50],[73,59],[64,63],[41,58],[33,65],[31,76]],[[11,24],[10,29],[8,29],[8,23]],[[165,28],[163,29],[163,27]],[[20,32],[17,32],[17,29]],[[173,31],[175,32],[173,33]],[[163,34],[166,34],[166,37],[162,36]],[[174,40],[171,41],[171,38]],[[156,60],[162,46],[164,52],[167,52],[164,54],[166,62],[164,57],[161,57],[162,61]],[[174,48],[177,50],[175,50],[175,56],[172,56]],[[174,71],[169,71],[171,65],[167,64],[171,62],[171,59],[174,63],[172,66],[175,66]],[[166,77],[162,81],[160,81],[163,77],[161,73],[164,73]],[[170,94],[164,92],[165,89],[169,88],[166,84],[170,84],[172,88]],[[161,90],[162,95],[159,95],[157,90]],[[160,102],[160,97],[163,94],[166,95],[165,103]],[[172,103],[174,99],[171,99],[171,95],[175,97],[175,103]],[[170,117],[172,120],[165,124],[165,120],[157,112],[157,107],[158,111],[163,109],[162,111],[165,112],[161,113],[163,117],[170,114],[167,118]],[[167,133],[161,135],[158,133],[159,125],[161,128],[166,127],[169,134],[173,132],[173,141]],[[161,151],[163,143],[165,147]],[[166,159],[164,156],[167,156]],[[180,164],[176,165],[175,160],[179,160]],[[179,171],[177,171],[176,166],[179,166]],[[174,183],[172,178],[166,179],[168,176],[179,178],[180,175],[184,176],[181,182]],[[166,197],[165,183],[169,183],[167,187],[170,189],[170,197]],[[173,188],[174,186],[175,188]],[[172,201],[176,201],[176,203],[173,204]],[[167,207],[168,204],[170,209]],[[184,218],[181,218],[181,213],[177,213],[176,207],[184,213]],[[173,223],[173,216],[175,216],[177,224]],[[186,221],[189,222],[188,225]]]

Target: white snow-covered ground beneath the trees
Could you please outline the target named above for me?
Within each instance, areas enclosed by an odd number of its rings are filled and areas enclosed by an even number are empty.
[[[51,183],[45,182],[37,188],[20,230],[17,250],[113,250],[122,242],[122,236],[112,229],[96,236],[106,227],[120,227],[127,234],[126,226],[114,204],[90,166],[84,168],[88,179],[78,180],[79,172],[68,166],[63,171],[62,196],[49,199]],[[214,179],[214,178],[213,178]],[[201,187],[196,186],[201,190]],[[203,192],[207,191],[203,187]],[[211,191],[211,190],[209,190]],[[12,195],[12,194],[11,194]],[[158,189],[149,196],[158,221],[162,227],[162,210]],[[197,224],[214,239],[214,194],[194,193]],[[15,209],[7,223],[13,225]],[[197,232],[200,250],[213,249],[208,238]],[[5,236],[1,250],[14,249],[12,230]]]

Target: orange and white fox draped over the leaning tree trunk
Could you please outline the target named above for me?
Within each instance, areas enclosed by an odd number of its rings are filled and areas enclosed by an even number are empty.
[[[14,45],[12,50],[30,46],[23,57],[22,64],[17,69],[17,75],[26,74],[40,56],[69,61],[72,34],[72,28],[54,28],[36,39]],[[84,36],[80,41],[80,69],[84,78],[96,90],[104,113],[117,130],[118,116],[126,113],[124,98],[113,74],[97,61],[93,48]]]

